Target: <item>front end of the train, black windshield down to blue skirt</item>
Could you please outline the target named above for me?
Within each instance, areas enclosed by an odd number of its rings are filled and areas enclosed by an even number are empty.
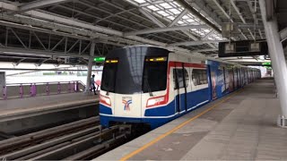
[[[169,53],[159,47],[135,46],[107,55],[100,87],[101,125],[147,123],[155,127],[163,122],[161,116],[147,116],[146,109],[168,103]]]

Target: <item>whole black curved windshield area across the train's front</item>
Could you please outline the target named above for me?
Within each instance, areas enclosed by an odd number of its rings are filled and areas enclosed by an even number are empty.
[[[168,50],[158,47],[126,47],[112,51],[106,60],[117,60],[117,63],[105,62],[100,89],[118,94],[166,89],[168,55]],[[158,61],[145,60],[152,57]]]

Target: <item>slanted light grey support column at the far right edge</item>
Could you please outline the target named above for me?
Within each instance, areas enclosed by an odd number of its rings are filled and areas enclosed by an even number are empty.
[[[276,82],[279,95],[282,115],[278,118],[278,125],[287,127],[287,66],[283,53],[283,45],[280,41],[280,35],[277,27],[276,17],[272,20],[266,20],[265,0],[259,0],[262,20],[265,26],[265,35],[268,43],[269,55],[274,70],[274,80]]]

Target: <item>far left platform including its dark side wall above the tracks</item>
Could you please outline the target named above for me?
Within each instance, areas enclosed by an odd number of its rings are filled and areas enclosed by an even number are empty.
[[[98,115],[98,103],[98,97],[83,93],[1,100],[0,131],[28,131]]]

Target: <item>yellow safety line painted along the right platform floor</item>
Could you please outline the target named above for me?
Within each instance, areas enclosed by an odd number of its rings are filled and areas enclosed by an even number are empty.
[[[210,110],[212,110],[213,108],[215,108],[216,106],[221,105],[223,102],[229,100],[231,97],[233,97],[234,95],[236,95],[237,93],[239,93],[239,91],[234,92],[232,95],[230,95],[229,97],[226,97],[225,99],[223,99],[222,101],[218,102],[217,104],[209,107],[208,109],[204,110],[202,113],[197,114],[196,116],[190,118],[189,120],[187,120],[184,123],[179,124],[177,127],[171,129],[170,131],[167,131],[166,133],[161,134],[161,136],[155,138],[154,140],[150,141],[149,143],[143,145],[143,147],[141,148],[137,148],[135,151],[129,153],[128,155],[126,155],[125,157],[122,157],[120,160],[121,161],[126,161],[127,159],[134,157],[136,154],[138,154],[139,152],[143,151],[143,149],[145,148],[149,148],[151,147],[153,144],[155,144],[156,142],[158,142],[159,140],[162,140],[163,138],[165,138],[166,136],[170,135],[170,133],[174,132],[174,131],[178,131],[178,129],[182,128],[183,126],[185,126],[187,123],[190,123],[194,120],[196,120],[196,118],[200,117],[201,115],[209,112]]]

